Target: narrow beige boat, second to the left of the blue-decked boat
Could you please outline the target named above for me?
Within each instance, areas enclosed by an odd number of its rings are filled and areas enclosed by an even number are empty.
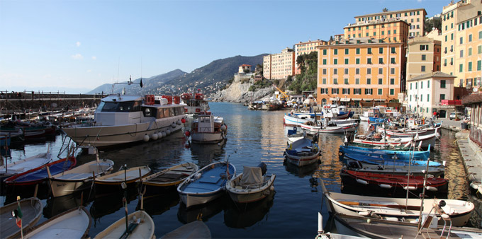
[[[121,191],[121,185],[125,182],[126,186],[133,185],[138,180],[147,177],[150,173],[148,166],[140,166],[134,168],[127,168],[123,166],[116,173],[96,177],[94,180],[96,192],[118,192]]]

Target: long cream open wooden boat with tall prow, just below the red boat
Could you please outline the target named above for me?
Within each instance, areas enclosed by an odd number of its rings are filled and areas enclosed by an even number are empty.
[[[432,206],[440,205],[443,214],[447,214],[452,220],[453,226],[464,226],[475,208],[472,202],[456,199],[368,197],[328,192],[323,180],[321,180],[321,187],[330,214],[376,216],[386,220],[414,222],[418,219],[420,211],[422,214],[430,214]]]

